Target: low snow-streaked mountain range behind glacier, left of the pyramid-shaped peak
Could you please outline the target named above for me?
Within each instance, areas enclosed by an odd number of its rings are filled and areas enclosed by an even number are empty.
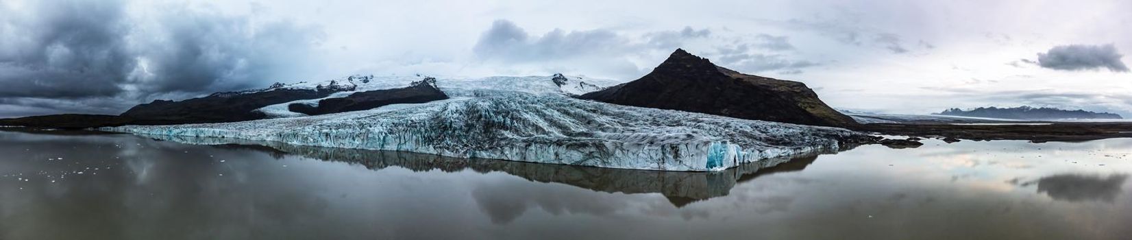
[[[414,83],[431,79],[428,87]],[[268,88],[214,93],[208,96],[139,104],[122,113],[137,125],[181,125],[247,121],[265,118],[302,117],[372,109],[386,104],[421,103],[456,95],[483,94],[483,91],[514,91],[537,94],[582,94],[600,89],[598,85],[556,74],[550,77],[445,78],[423,76],[375,77],[354,75],[326,82],[276,83]],[[598,84],[609,80],[586,79]],[[611,85],[611,84],[608,84]],[[608,86],[607,85],[607,86]],[[398,88],[400,87],[400,88]],[[443,96],[443,97],[441,97]],[[328,105],[321,106],[321,103]]]

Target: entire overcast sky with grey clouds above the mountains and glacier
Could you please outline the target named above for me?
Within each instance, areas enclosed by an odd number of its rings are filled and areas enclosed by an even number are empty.
[[[847,110],[1132,117],[1132,1],[0,0],[0,117],[352,74],[633,80],[676,48]]]

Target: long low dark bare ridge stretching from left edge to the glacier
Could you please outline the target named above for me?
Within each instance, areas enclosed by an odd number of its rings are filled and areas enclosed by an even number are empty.
[[[360,92],[354,93],[349,97],[331,98],[327,101],[327,106],[335,108],[324,110],[327,111],[324,113],[359,111],[387,104],[422,103],[447,98],[447,95],[436,87],[436,80],[428,79],[429,78],[415,82],[410,87]],[[353,77],[351,77],[350,80],[353,80]],[[369,78],[360,80],[366,83]],[[293,88],[286,87],[286,85],[283,84],[274,84],[271,87],[263,89],[220,92],[183,101],[155,100],[151,103],[135,105],[120,115],[35,115],[15,119],[0,119],[0,126],[85,129],[126,125],[183,125],[249,121],[267,118],[265,113],[255,111],[264,106],[298,100],[323,98],[334,93],[354,89],[357,89],[355,85],[336,80],[331,80],[327,85],[317,85],[310,88]]]

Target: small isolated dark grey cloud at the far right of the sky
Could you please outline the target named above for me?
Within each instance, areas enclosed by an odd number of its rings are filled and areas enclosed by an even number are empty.
[[[1045,53],[1038,53],[1038,66],[1055,70],[1097,70],[1106,68],[1112,71],[1129,71],[1121,61],[1123,55],[1113,44],[1106,45],[1060,45]],[[1028,61],[1034,62],[1034,61]]]

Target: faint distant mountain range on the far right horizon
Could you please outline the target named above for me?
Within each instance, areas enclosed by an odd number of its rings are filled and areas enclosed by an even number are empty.
[[[949,109],[937,115],[959,115],[975,118],[1019,119],[1019,120],[1057,120],[1057,119],[1124,119],[1120,114],[1108,112],[1090,112],[1084,110],[1061,110],[1054,108],[978,108],[971,110]]]

